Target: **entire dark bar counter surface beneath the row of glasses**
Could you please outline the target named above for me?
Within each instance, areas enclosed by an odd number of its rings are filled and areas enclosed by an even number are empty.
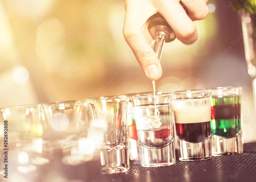
[[[177,154],[177,151],[176,151]],[[203,161],[179,161],[164,167],[142,167],[140,161],[130,160],[130,170],[119,174],[100,174],[101,162],[87,161],[71,166],[61,162],[60,152],[52,162],[37,166],[37,170],[17,175],[8,172],[8,179],[0,175],[1,182],[255,182],[256,142],[244,144],[244,152],[238,155],[212,157]],[[11,160],[11,159],[10,159]],[[9,161],[8,161],[9,162]],[[11,161],[10,161],[11,162]],[[0,165],[1,166],[1,165]],[[11,163],[10,163],[11,166]],[[2,168],[2,167],[1,167]]]

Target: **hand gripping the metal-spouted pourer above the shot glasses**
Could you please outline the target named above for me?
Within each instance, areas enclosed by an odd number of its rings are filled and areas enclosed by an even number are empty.
[[[193,21],[208,15],[208,0],[182,0],[188,13],[179,4],[180,0],[124,0],[125,20],[123,34],[146,76],[158,80],[162,75],[161,64],[144,35],[148,18],[159,12],[173,29],[178,40],[193,44],[197,29]]]

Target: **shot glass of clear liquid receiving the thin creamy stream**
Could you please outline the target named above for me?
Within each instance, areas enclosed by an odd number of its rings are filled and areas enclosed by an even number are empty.
[[[143,167],[175,164],[173,94],[131,97]]]

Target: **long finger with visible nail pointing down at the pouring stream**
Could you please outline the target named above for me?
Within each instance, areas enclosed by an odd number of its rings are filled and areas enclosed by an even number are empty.
[[[123,28],[123,35],[127,44],[132,49],[145,75],[151,80],[157,80],[161,77],[162,68],[154,50],[145,38],[142,27],[147,18],[154,13],[149,12],[149,15],[145,15],[144,12],[142,15],[141,11],[134,11],[134,7],[130,8],[127,5]]]

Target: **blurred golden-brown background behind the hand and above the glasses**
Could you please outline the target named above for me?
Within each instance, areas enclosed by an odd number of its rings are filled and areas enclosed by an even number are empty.
[[[195,44],[165,44],[156,89],[242,85],[244,142],[255,141],[240,15],[228,0],[208,4]],[[0,8],[0,107],[153,91],[124,40],[123,1],[1,0]]]

